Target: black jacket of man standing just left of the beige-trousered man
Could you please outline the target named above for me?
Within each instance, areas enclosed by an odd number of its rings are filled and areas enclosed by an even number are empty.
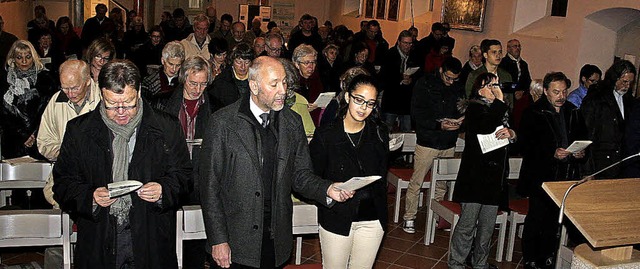
[[[414,54],[407,59],[407,68],[421,67],[424,63],[416,61]],[[384,97],[382,98],[382,111],[398,115],[409,115],[411,113],[411,95],[416,80],[423,74],[418,70],[411,76],[409,85],[400,85],[403,79],[402,58],[398,47],[394,46],[387,51],[380,69],[381,82],[384,83]]]

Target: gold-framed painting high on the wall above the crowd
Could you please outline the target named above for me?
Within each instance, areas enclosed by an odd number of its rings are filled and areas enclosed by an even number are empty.
[[[441,22],[453,29],[482,32],[487,0],[443,0]]]

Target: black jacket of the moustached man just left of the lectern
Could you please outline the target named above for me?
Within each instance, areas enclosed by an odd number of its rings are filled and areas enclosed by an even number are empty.
[[[557,126],[554,117],[562,117],[564,127]],[[523,157],[518,194],[529,196],[536,192],[540,195],[544,194],[542,182],[579,179],[583,159],[570,155],[558,160],[553,156],[557,148],[566,149],[573,141],[586,139],[586,135],[582,115],[571,102],[565,102],[559,114],[544,96],[527,108],[518,130]],[[567,139],[564,145],[562,136]]]

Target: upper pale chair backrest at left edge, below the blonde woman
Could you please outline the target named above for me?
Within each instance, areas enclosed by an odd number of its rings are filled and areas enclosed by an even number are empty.
[[[43,188],[51,163],[0,163],[0,189]]]

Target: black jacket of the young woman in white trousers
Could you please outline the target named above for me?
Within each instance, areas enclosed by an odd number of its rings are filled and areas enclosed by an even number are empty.
[[[354,141],[358,143],[358,141]],[[354,148],[342,120],[316,129],[309,144],[315,174],[334,182],[345,182],[352,177],[381,176],[376,182],[356,191],[353,198],[337,203],[331,208],[318,207],[318,222],[329,232],[348,236],[351,223],[360,215],[377,216],[382,228],[387,223],[387,153],[389,135],[386,127],[380,128],[367,121],[360,143]],[[373,219],[367,219],[373,220]]]

